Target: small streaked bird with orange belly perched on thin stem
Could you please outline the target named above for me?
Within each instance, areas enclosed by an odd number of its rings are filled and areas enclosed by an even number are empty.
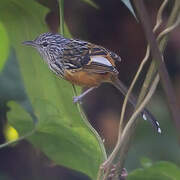
[[[80,102],[93,89],[102,83],[111,83],[123,95],[128,88],[118,78],[117,64],[121,58],[116,53],[90,42],[79,39],[65,38],[58,33],[43,33],[24,45],[34,47],[48,64],[49,69],[58,77],[73,85],[87,88],[79,96],[74,97],[74,103]],[[130,95],[129,102],[135,108],[137,98]],[[141,112],[144,120],[149,120],[158,133],[161,133],[159,122],[144,108]]]

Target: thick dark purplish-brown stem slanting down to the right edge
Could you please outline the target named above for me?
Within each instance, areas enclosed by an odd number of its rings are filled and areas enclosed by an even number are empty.
[[[161,52],[160,52],[160,50],[158,48],[156,39],[155,39],[155,37],[153,35],[153,32],[151,30],[151,25],[149,23],[149,17],[148,17],[148,14],[147,14],[147,10],[146,10],[142,0],[138,0],[138,1],[134,0],[134,4],[135,4],[135,6],[137,8],[137,12],[139,13],[139,17],[140,17],[140,20],[142,22],[142,26],[144,28],[147,41],[150,44],[151,53],[152,53],[153,59],[155,60],[154,61],[155,62],[155,67],[157,67],[159,69],[159,75],[161,77],[162,86],[163,86],[163,89],[164,89],[164,91],[166,93],[166,97],[167,97],[167,100],[168,100],[170,110],[172,112],[173,119],[175,121],[176,126],[180,127],[180,122],[179,122],[180,113],[179,113],[179,108],[177,106],[175,92],[174,92],[174,89],[172,87],[172,84],[171,84],[171,81],[170,81],[170,78],[169,78],[165,63],[164,63],[163,56],[162,56],[162,54],[161,54]],[[179,10],[180,2],[178,0],[176,0],[174,6],[176,6],[175,7],[176,10]],[[176,18],[177,14],[178,14],[178,12],[176,14],[173,13],[173,15],[172,15],[173,18]],[[170,20],[172,20],[172,16],[171,16]],[[164,44],[166,45],[167,38],[164,41],[165,41]],[[165,45],[164,45],[164,47],[165,47]],[[151,71],[152,71],[152,69],[151,69]],[[152,74],[151,74],[150,77],[152,77]]]

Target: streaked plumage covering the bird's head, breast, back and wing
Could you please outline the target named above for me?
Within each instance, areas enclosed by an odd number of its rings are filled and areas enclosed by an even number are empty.
[[[114,61],[120,62],[120,57],[101,46],[52,33],[40,35],[34,43],[38,45],[37,49],[50,69],[62,78],[65,70],[77,72],[83,68],[88,72],[92,69],[94,72],[94,66],[98,73],[118,73]],[[111,62],[107,60],[107,56],[111,58]],[[100,58],[101,61],[96,60]]]

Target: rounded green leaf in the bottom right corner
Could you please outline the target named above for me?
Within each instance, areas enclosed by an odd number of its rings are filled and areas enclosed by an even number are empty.
[[[145,169],[137,169],[127,180],[179,180],[180,168],[171,162],[161,161]]]

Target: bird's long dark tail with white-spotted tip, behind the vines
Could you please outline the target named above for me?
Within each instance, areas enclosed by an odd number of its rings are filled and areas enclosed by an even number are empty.
[[[118,79],[113,78],[112,84],[125,96],[127,94],[128,88]],[[134,95],[130,95],[128,101],[132,104],[132,106],[135,108],[137,103],[137,98]],[[146,109],[144,108],[141,112],[141,115],[144,120],[148,120],[151,122],[151,124],[155,127],[158,133],[161,133],[161,128],[159,126],[159,122],[154,118],[154,116]]]

